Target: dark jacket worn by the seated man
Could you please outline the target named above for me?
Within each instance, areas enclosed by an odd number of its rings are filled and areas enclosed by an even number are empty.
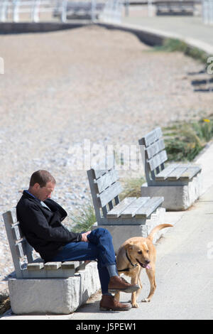
[[[21,231],[28,243],[48,262],[65,244],[80,242],[82,235],[72,233],[62,225],[67,212],[58,203],[51,199],[44,203],[50,210],[41,205],[38,198],[23,191],[16,212]]]

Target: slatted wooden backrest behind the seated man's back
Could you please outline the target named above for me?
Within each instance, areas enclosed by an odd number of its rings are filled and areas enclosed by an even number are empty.
[[[12,208],[11,210],[5,212],[3,214],[3,218],[6,228],[6,235],[8,237],[9,246],[11,249],[13,265],[15,267],[16,277],[18,279],[22,277],[21,260],[23,260],[23,257],[26,257],[28,263],[33,262],[33,247],[31,247],[31,245],[28,244],[26,238],[23,237],[19,222],[17,221],[16,208]]]

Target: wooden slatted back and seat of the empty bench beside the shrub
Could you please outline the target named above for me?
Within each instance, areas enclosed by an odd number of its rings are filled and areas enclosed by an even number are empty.
[[[165,198],[163,204],[167,205],[166,198],[168,197],[165,193],[166,191],[172,190],[172,186],[173,188],[176,187],[176,190],[180,190],[180,188],[177,187],[189,186],[197,176],[200,176],[200,166],[193,163],[170,163],[165,167],[165,162],[168,160],[168,157],[160,127],[149,132],[146,136],[143,136],[138,142],[141,145],[144,171],[148,186],[141,188],[142,195],[150,193],[151,190],[153,190],[151,193],[162,193]],[[200,188],[200,183],[198,187]],[[149,188],[149,190],[146,188]],[[165,191],[163,192],[163,190]],[[195,188],[195,190],[195,198],[197,199],[200,195],[200,189]],[[166,208],[166,206],[164,207]]]

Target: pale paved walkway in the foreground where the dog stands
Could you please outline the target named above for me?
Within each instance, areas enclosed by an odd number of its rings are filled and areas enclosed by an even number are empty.
[[[166,212],[165,222],[174,225],[157,245],[157,289],[151,303],[139,303],[128,312],[99,311],[100,295],[68,316],[15,316],[1,320],[143,320],[213,319],[213,144],[197,158],[202,166],[203,194],[185,212]],[[145,271],[139,301],[148,295]],[[121,301],[129,294],[121,293]]]

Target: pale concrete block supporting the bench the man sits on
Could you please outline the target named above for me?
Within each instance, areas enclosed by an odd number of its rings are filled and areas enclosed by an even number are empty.
[[[9,279],[15,314],[69,314],[99,289],[96,262],[68,279]]]

